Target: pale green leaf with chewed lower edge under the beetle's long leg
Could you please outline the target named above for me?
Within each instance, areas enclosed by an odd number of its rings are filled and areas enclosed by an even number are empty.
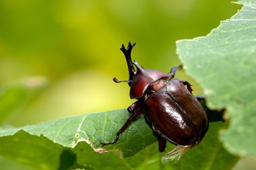
[[[97,152],[102,153],[105,149],[99,148],[101,146],[100,142],[114,140],[115,133],[121,128],[123,122],[128,117],[127,110],[86,114],[73,118],[44,122],[34,126],[1,130],[0,136],[9,136],[20,130],[24,130],[32,135],[43,135],[55,143],[70,148],[75,147],[77,142],[85,141]],[[151,128],[146,124],[144,119],[139,119],[129,126],[117,144],[106,146],[106,151],[115,150],[122,157],[130,157],[155,141],[156,137],[152,135]],[[137,142],[141,144],[137,144]]]

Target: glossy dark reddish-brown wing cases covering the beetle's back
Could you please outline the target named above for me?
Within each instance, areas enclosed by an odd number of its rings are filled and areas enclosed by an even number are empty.
[[[144,101],[154,130],[179,145],[197,144],[208,128],[205,110],[179,79],[172,79]]]

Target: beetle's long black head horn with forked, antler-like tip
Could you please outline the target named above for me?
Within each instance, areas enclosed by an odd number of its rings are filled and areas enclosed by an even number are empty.
[[[127,62],[128,70],[129,70],[129,86],[131,86],[131,80],[133,79],[134,75],[136,74],[136,71],[133,67],[133,63],[131,62],[131,50],[133,50],[133,47],[135,46],[136,43],[131,44],[129,42],[128,47],[125,48],[124,45],[121,46],[120,50],[125,54],[125,59]]]

